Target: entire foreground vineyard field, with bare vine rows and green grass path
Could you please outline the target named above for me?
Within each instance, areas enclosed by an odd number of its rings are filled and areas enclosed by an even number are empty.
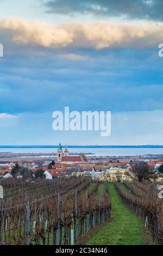
[[[152,182],[1,180],[1,245],[162,245],[163,204]]]

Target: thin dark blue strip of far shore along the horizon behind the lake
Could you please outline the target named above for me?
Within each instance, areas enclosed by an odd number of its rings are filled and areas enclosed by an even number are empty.
[[[0,145],[0,148],[58,148],[58,145]],[[68,148],[163,148],[163,145],[68,145]]]

